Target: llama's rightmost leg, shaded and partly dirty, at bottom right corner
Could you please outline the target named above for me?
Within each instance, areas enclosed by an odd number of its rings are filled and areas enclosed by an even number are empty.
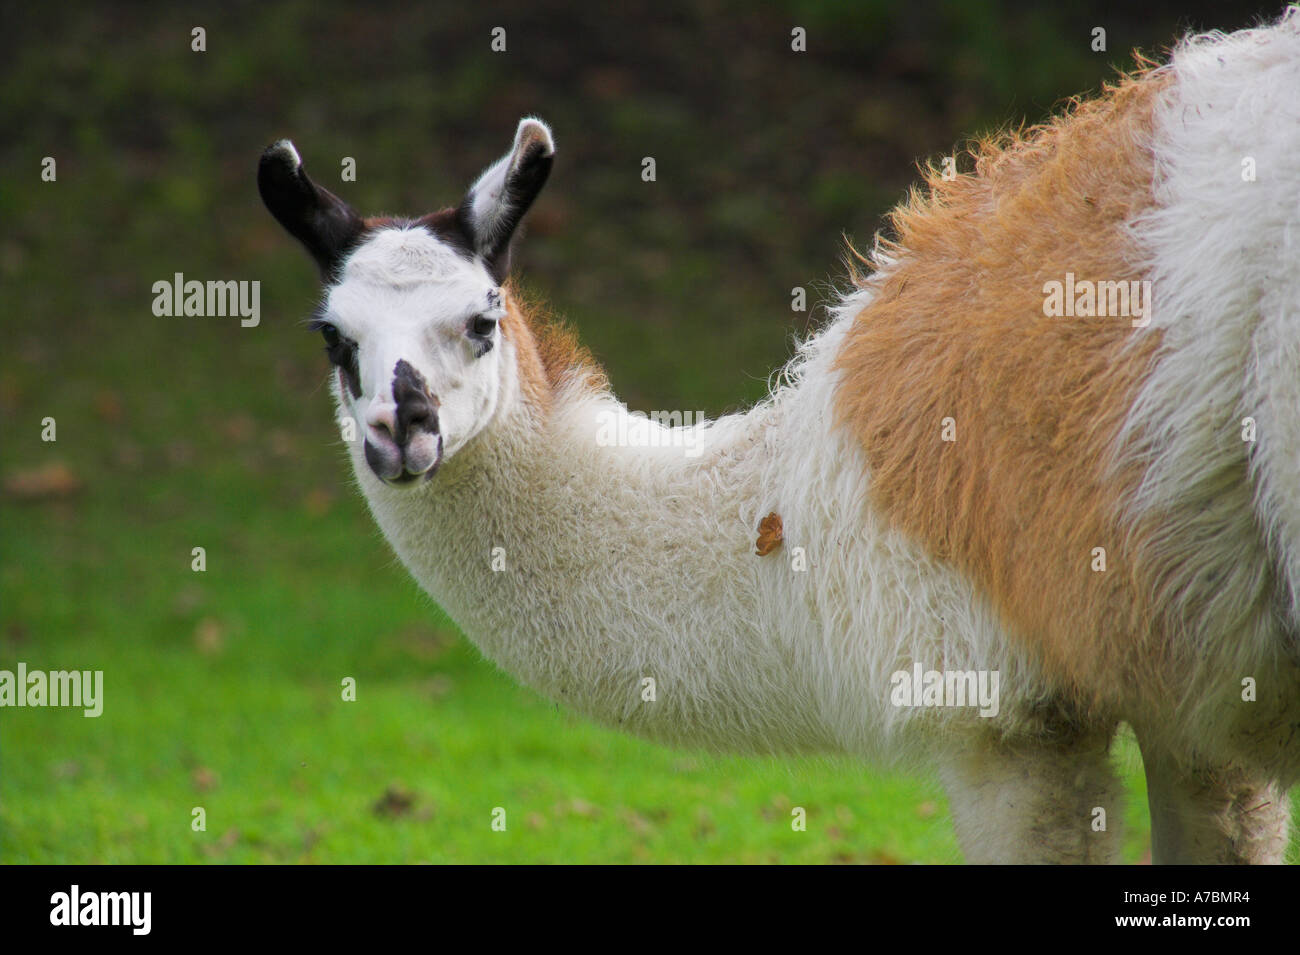
[[[1240,769],[1188,768],[1148,743],[1141,743],[1141,755],[1153,863],[1282,861],[1290,804],[1280,786]]]

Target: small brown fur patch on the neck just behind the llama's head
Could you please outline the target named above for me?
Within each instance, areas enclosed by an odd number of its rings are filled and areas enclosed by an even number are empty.
[[[529,299],[519,287],[506,286],[506,317],[502,335],[515,344],[519,355],[519,381],[524,400],[541,411],[551,408],[558,391],[577,386],[589,391],[610,387],[604,372],[577,335],[543,304]]]

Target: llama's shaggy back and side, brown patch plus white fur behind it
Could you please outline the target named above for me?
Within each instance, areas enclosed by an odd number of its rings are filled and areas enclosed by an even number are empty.
[[[870,507],[1070,698],[1213,747],[1249,677],[1286,725],[1300,16],[972,153],[893,214],[836,355]]]

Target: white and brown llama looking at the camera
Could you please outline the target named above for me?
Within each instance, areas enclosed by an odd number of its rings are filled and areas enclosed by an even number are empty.
[[[257,182],[321,270],[374,520],[525,685],[668,745],[933,769],[971,861],[1115,860],[1124,721],[1156,861],[1280,861],[1300,13],[972,153],[767,400],[681,429],[510,282],[541,121],[421,218],[358,216],[289,140]]]

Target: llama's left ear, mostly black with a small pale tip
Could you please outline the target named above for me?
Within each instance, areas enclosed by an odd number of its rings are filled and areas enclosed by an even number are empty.
[[[270,214],[298,239],[329,281],[365,227],[361,217],[308,178],[287,139],[266,147],[257,164],[257,191]]]

